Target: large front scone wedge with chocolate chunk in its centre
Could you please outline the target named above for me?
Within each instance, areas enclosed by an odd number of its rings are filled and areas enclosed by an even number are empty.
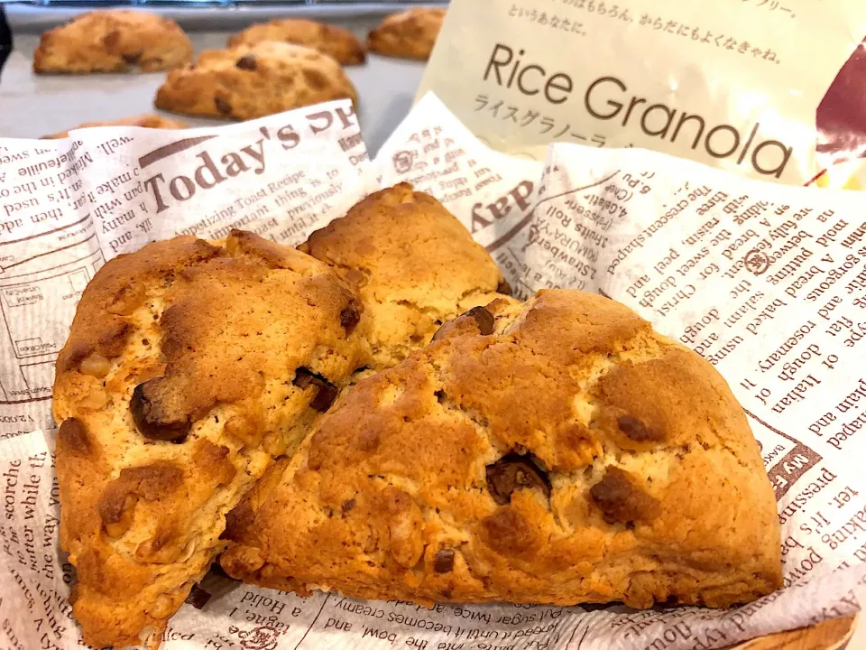
[[[221,562],[300,594],[724,607],[780,586],[775,506],[713,367],[545,291],[356,385],[230,514]]]

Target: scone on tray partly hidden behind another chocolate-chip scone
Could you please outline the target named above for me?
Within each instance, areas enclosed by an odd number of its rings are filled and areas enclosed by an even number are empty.
[[[255,45],[263,41],[279,41],[303,45],[336,59],[343,65],[364,63],[364,46],[355,34],[336,25],[317,23],[303,18],[273,20],[250,25],[228,40],[228,47]]]

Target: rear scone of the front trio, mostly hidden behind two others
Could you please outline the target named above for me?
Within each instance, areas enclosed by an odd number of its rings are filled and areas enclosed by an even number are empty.
[[[371,194],[299,249],[361,296],[360,327],[376,370],[426,346],[447,320],[511,292],[463,224],[409,183]]]

